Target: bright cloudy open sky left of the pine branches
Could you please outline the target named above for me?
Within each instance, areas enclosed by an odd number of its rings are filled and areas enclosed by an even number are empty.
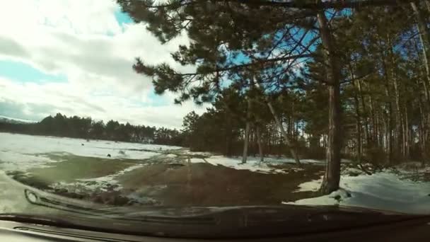
[[[167,62],[186,36],[160,42],[113,0],[0,1],[0,115],[41,120],[62,113],[133,125],[180,128],[206,107],[157,96],[134,73],[135,57]]]

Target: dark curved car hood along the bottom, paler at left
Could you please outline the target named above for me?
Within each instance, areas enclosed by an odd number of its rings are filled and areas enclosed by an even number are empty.
[[[351,229],[420,217],[337,206],[112,207],[30,188],[4,173],[0,173],[0,185],[0,219],[151,236],[255,238]]]

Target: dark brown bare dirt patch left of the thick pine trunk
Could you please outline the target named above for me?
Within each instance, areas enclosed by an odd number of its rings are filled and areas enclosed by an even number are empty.
[[[166,206],[269,205],[318,195],[294,192],[299,184],[320,178],[323,167],[304,168],[288,174],[265,174],[209,163],[159,163],[125,173],[117,180],[124,187],[123,193],[152,197]]]

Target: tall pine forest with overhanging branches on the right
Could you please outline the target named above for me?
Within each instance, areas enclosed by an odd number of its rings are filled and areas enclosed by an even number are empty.
[[[429,159],[429,1],[117,2],[160,42],[190,40],[173,63],[133,68],[176,103],[213,103],[185,118],[192,148],[324,156],[323,193],[342,155]]]

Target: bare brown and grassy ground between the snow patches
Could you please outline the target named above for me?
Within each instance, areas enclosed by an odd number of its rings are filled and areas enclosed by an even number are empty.
[[[299,184],[320,178],[324,166],[306,164],[303,169],[297,169],[294,164],[286,163],[274,166],[286,173],[267,174],[210,163],[189,163],[189,158],[202,155],[175,150],[170,152],[176,155],[172,157],[166,152],[144,161],[67,156],[50,167],[15,171],[8,175],[26,185],[64,197],[117,206],[279,205],[319,195],[318,192],[295,191]],[[74,182],[76,179],[112,175],[136,163],[143,166],[118,175],[115,183],[104,184],[103,190],[77,192],[54,185],[59,180]],[[86,183],[93,185],[93,182]]]

